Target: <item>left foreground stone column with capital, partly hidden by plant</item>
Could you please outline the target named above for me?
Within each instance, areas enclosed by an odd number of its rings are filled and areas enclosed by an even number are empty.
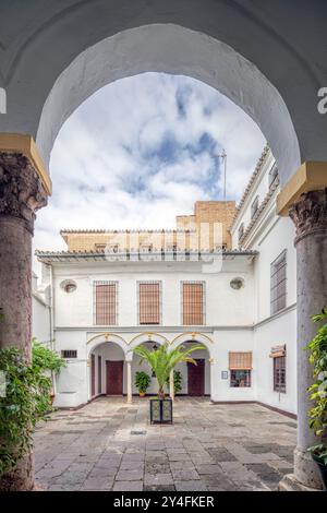
[[[32,237],[35,212],[47,203],[39,175],[21,153],[0,153],[0,347],[17,347],[26,361],[32,337]],[[0,479],[0,490],[29,490],[33,455]]]

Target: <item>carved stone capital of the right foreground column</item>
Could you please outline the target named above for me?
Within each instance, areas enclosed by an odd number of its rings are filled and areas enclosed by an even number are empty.
[[[327,231],[327,189],[301,194],[289,215],[296,229],[295,244],[307,235]]]

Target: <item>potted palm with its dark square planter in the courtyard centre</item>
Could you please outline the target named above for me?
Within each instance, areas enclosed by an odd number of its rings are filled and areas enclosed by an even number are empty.
[[[158,382],[158,397],[150,399],[150,422],[152,423],[172,423],[172,402],[170,397],[166,397],[165,385],[169,380],[170,372],[178,363],[196,361],[191,357],[192,353],[203,349],[204,346],[195,345],[190,349],[179,346],[169,350],[168,344],[162,344],[156,349],[148,349],[140,345],[135,347],[135,355],[141,357],[140,363],[146,361]]]

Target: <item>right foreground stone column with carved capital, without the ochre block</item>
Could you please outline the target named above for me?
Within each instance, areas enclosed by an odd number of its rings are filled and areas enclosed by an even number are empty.
[[[307,448],[317,441],[308,429],[307,411],[313,403],[306,389],[313,378],[304,347],[317,330],[311,317],[327,306],[327,189],[303,193],[289,214],[296,228],[298,269],[298,445],[294,477],[306,487],[320,489],[317,466],[307,453]]]

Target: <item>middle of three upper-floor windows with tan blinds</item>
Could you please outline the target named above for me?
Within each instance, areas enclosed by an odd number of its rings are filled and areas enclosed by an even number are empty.
[[[161,282],[137,283],[138,323],[161,323]]]

